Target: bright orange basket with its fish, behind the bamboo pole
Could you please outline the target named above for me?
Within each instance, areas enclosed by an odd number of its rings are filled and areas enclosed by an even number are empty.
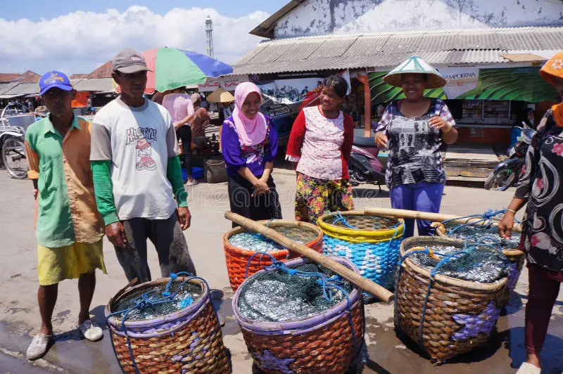
[[[267,227],[281,233],[282,235],[307,245],[317,252],[322,251],[322,231],[307,222],[286,221],[276,219],[272,221],[260,221]],[[251,233],[244,228],[237,227],[226,233],[223,237],[224,257],[227,264],[227,273],[231,288],[236,291],[247,276],[260,271],[264,266],[272,264],[270,257],[256,252],[266,252],[276,261],[286,261],[298,257],[285,247],[265,238],[258,233]],[[249,262],[252,257],[252,260]]]

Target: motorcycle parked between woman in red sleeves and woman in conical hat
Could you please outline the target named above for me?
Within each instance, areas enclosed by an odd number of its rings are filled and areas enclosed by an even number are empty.
[[[385,170],[377,159],[379,149],[374,138],[354,137],[348,173],[352,186],[360,184],[377,184],[381,191],[381,184],[385,184]]]

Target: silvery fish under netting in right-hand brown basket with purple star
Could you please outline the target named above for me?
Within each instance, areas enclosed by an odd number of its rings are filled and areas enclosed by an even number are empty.
[[[432,271],[443,259],[448,259],[438,268],[438,274],[451,278],[479,283],[495,283],[510,272],[510,261],[500,250],[486,245],[431,245],[433,256],[425,252],[411,254],[415,264]],[[434,257],[434,258],[433,258]]]

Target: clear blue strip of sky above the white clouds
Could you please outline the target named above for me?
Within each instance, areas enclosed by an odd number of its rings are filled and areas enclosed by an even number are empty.
[[[240,17],[253,11],[265,11],[274,13],[279,8],[289,3],[289,0],[214,0],[214,1],[182,1],[182,0],[160,0],[160,1],[111,1],[111,0],[16,0],[0,1],[0,18],[6,20],[18,20],[27,18],[38,21],[42,18],[56,18],[75,11],[103,12],[108,8],[125,11],[129,6],[146,6],[156,13],[167,13],[172,8],[215,8],[224,15]]]

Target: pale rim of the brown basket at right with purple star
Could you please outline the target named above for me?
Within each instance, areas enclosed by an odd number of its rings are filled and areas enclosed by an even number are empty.
[[[455,246],[458,246],[458,245],[463,243],[460,240],[438,238],[436,236],[428,236],[428,237],[413,236],[412,238],[407,238],[407,239],[403,240],[403,243],[400,243],[400,255],[401,255],[401,257],[403,257],[405,255],[405,253],[407,252],[405,250],[405,247],[407,245],[410,245],[412,242],[415,242],[415,240],[422,240],[423,242],[424,242],[424,240],[431,240],[434,243],[441,243],[441,244],[445,244],[445,245],[449,244],[449,245],[455,245]],[[429,270],[424,269],[422,266],[415,264],[408,257],[405,259],[405,261],[403,261],[403,264],[401,266],[409,266],[416,273],[419,273],[419,275],[425,276],[426,278],[430,278],[430,271]],[[474,281],[471,281],[471,280],[460,280],[460,279],[452,278],[452,277],[449,277],[449,276],[443,276],[442,274],[436,274],[434,279],[437,280],[438,282],[444,283],[445,285],[468,288],[470,290],[476,290],[476,291],[495,291],[495,290],[499,290],[500,288],[504,288],[505,285],[506,285],[506,282],[507,282],[507,277],[502,278],[502,280],[500,280],[500,282],[479,283],[479,282],[474,282]]]

